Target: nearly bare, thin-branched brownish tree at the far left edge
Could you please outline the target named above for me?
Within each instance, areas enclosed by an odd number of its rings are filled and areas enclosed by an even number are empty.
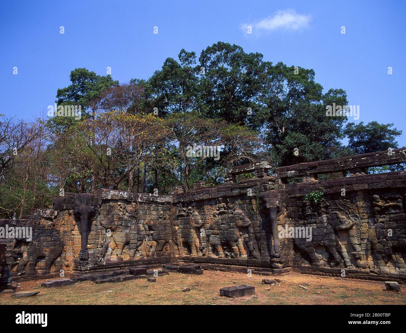
[[[23,218],[52,201],[45,122],[3,117],[0,122],[0,216]]]

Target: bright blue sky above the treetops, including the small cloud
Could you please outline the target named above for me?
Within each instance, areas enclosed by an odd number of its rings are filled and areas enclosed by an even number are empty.
[[[360,106],[356,122],[393,122],[406,146],[405,13],[403,0],[1,1],[0,113],[39,116],[77,67],[105,75],[110,66],[120,82],[147,79],[182,48],[199,56],[224,41],[313,68],[325,91],[343,88]]]

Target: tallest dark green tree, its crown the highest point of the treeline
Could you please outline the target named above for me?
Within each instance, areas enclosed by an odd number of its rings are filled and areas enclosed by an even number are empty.
[[[261,119],[249,114],[257,109],[255,97],[261,90],[265,69],[261,53],[245,53],[242,47],[218,42],[199,57],[199,112],[228,124],[258,128]]]

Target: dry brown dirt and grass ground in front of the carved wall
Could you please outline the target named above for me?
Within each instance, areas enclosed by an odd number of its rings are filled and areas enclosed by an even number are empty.
[[[285,282],[262,284],[263,278]],[[385,290],[383,282],[347,280],[291,273],[264,276],[204,271],[203,275],[170,273],[156,282],[137,279],[121,283],[95,284],[91,281],[60,288],[41,287],[44,280],[21,282],[17,291],[39,290],[40,294],[15,299],[0,294],[0,304],[406,304],[406,287],[400,293]],[[219,289],[251,284],[255,295],[240,298],[220,297]],[[304,288],[300,287],[303,286]],[[184,288],[188,292],[182,292]]]

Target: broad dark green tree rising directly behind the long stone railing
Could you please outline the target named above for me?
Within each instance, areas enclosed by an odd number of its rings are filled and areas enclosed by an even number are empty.
[[[264,140],[279,166],[338,157],[343,146],[343,117],[326,116],[326,106],[347,105],[346,92],[314,81],[314,71],[266,63],[257,103],[264,117]],[[296,152],[296,154],[294,154]]]

